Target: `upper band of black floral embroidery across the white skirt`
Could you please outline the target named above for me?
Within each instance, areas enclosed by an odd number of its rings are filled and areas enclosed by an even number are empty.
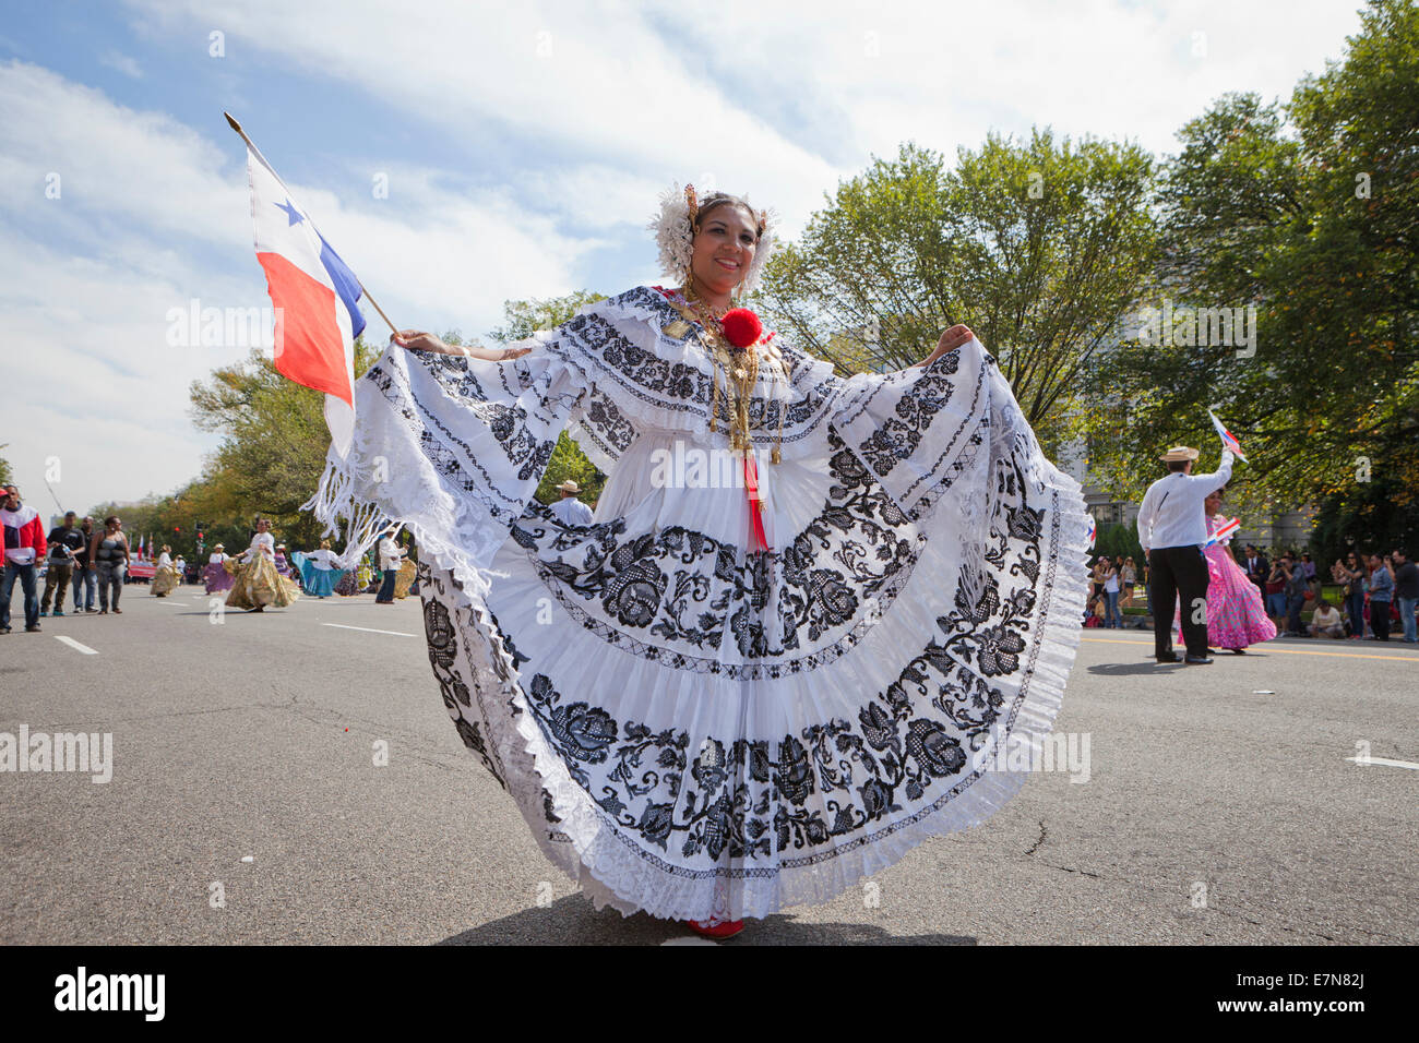
[[[782,552],[744,553],[684,526],[627,536],[620,519],[569,531],[536,502],[512,539],[573,619],[623,650],[688,666],[691,649],[715,651],[728,634],[745,660],[761,661],[745,671],[775,658],[786,660],[782,668],[812,668],[853,647],[881,617],[924,541],[898,532],[907,518],[832,429],[829,446],[833,484],[823,509]],[[589,610],[592,602],[600,613]],[[637,630],[646,641],[636,643]],[[832,636],[837,640],[817,647]],[[805,646],[810,656],[795,657]],[[718,657],[698,663],[714,673],[738,668]]]

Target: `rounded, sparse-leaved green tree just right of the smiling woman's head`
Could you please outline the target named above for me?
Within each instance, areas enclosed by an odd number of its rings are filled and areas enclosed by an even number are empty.
[[[1152,158],[1134,143],[990,135],[955,169],[907,143],[840,183],[769,263],[763,308],[843,372],[920,362],[965,322],[1057,448],[1154,263],[1152,189]]]

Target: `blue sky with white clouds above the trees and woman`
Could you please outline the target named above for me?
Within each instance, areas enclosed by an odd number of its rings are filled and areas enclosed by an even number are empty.
[[[908,139],[1051,125],[1164,153],[1219,94],[1284,98],[1340,58],[1357,7],[4,0],[0,454],[41,511],[45,474],[85,511],[200,473],[187,387],[245,349],[170,346],[167,312],[267,304],[223,109],[397,324],[484,335],[508,298],[658,281],[644,224],[673,182],[748,193],[792,238]]]

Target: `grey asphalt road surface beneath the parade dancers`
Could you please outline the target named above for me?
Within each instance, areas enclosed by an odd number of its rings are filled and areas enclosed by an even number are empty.
[[[108,783],[0,773],[0,942],[691,941],[541,857],[450,725],[417,597],[220,624],[199,587],[122,605],[0,637],[0,732],[114,736]],[[1087,782],[1042,772],[725,944],[1419,942],[1419,650],[1149,651],[1086,631],[1057,729],[1088,736]]]

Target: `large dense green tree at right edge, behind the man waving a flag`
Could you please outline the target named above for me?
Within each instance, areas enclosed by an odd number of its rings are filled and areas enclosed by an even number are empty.
[[[1253,509],[1364,500],[1371,475],[1419,495],[1419,9],[1376,0],[1361,20],[1288,105],[1226,95],[1182,128],[1156,288],[1254,305],[1256,353],[1137,339],[1112,353],[1094,390],[1122,421],[1091,464],[1115,490],[1138,495],[1154,475],[1137,460],[1159,447],[1216,446],[1216,406],[1247,451],[1235,481]]]

